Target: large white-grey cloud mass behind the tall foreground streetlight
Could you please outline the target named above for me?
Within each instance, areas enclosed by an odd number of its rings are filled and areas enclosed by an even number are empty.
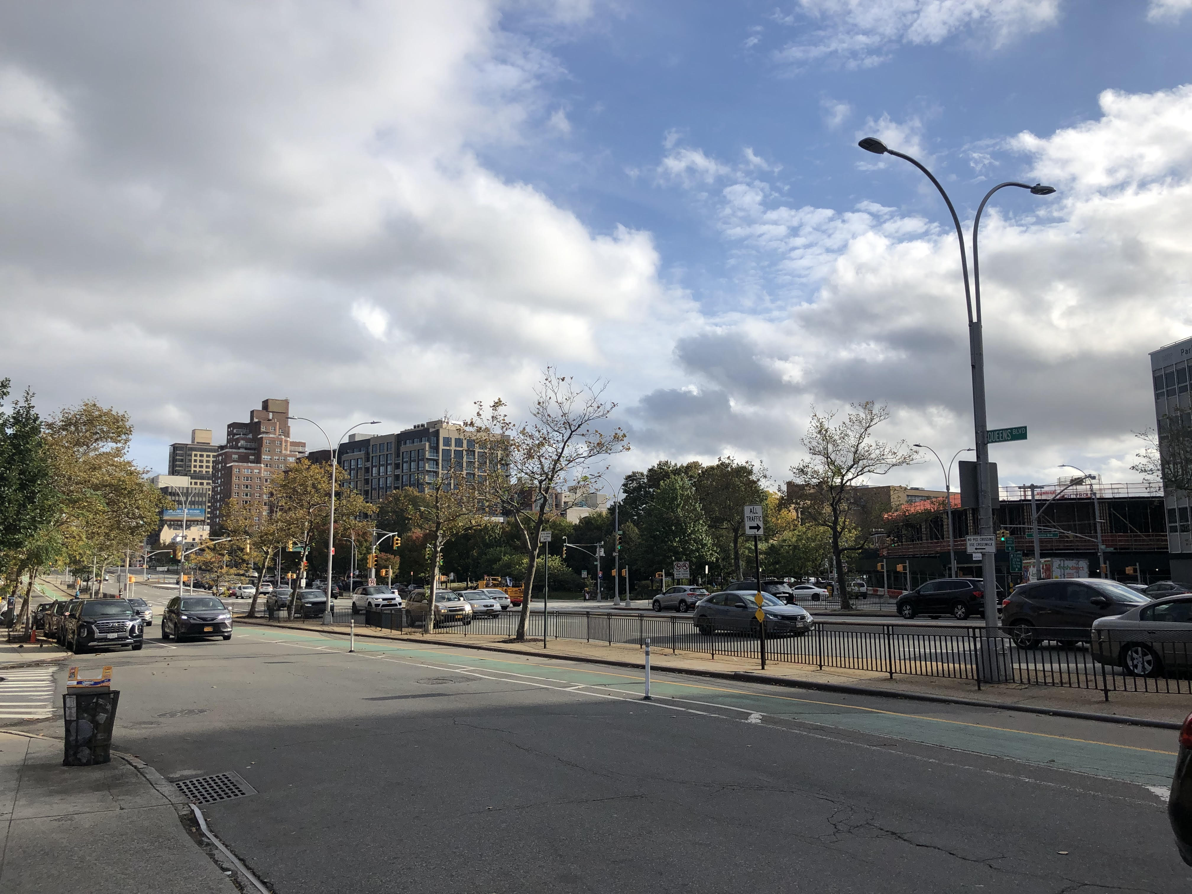
[[[1030,429],[1029,442],[995,451],[1004,482],[1045,480],[1058,462],[1132,478],[1131,429],[1154,424],[1147,354],[1192,335],[1192,88],[1106,92],[1100,103],[1095,120],[1022,134],[999,150],[1010,176],[1060,188],[1004,191],[982,219],[989,424]],[[949,188],[961,207],[983,192]],[[875,399],[893,412],[887,436],[970,445],[964,297],[943,207],[929,222],[783,197],[756,178],[721,190],[724,238],[752,253],[749,271],[763,272],[771,303],[679,340],[676,361],[700,401],[660,391],[638,426],[663,433],[666,412],[685,420],[716,405],[699,455],[749,441],[747,455],[781,470],[797,455],[811,404]],[[924,466],[908,478],[931,484],[932,474]]]

